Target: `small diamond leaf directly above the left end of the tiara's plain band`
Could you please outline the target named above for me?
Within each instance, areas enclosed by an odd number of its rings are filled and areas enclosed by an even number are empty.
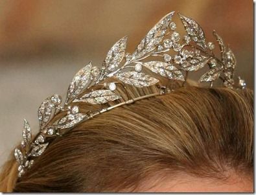
[[[69,114],[58,121],[57,128],[66,129],[71,128],[81,122],[84,118],[88,117],[88,115],[83,113],[77,113],[75,115]]]

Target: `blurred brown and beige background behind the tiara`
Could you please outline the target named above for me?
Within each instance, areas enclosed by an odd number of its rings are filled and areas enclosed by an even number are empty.
[[[0,1],[0,165],[21,141],[23,118],[38,132],[45,98],[65,96],[76,71],[90,60],[100,65],[125,35],[132,52],[172,10],[198,21],[208,41],[215,29],[237,56],[237,74],[253,88],[253,1]]]

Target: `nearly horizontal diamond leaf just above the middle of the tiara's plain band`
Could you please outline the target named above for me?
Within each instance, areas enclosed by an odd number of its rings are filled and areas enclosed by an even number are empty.
[[[105,104],[113,100],[121,98],[119,95],[113,93],[113,91],[100,89],[96,91],[91,91],[83,95],[81,98],[75,99],[73,102],[86,102],[89,104]]]

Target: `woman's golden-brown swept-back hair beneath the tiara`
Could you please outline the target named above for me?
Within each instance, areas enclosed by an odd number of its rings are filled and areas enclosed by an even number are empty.
[[[20,179],[12,157],[0,190],[132,192],[154,173],[226,179],[229,170],[253,174],[253,91],[186,86],[79,124]]]

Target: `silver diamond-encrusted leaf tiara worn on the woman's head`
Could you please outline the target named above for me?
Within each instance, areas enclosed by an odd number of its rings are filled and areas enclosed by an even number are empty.
[[[108,51],[102,67],[93,66],[89,62],[80,69],[69,84],[63,106],[60,95],[45,99],[38,109],[40,131],[33,139],[29,122],[24,120],[23,141],[20,147],[14,150],[19,164],[19,177],[32,166],[36,157],[43,154],[54,138],[63,135],[77,124],[124,104],[173,91],[162,84],[157,76],[165,78],[168,82],[179,81],[185,84],[189,72],[198,71],[207,65],[208,71],[200,77],[198,83],[209,82],[209,87],[213,87],[213,82],[218,79],[224,87],[246,87],[246,82],[240,77],[235,80],[235,55],[215,31],[213,36],[220,47],[219,58],[213,52],[215,44],[205,41],[204,31],[196,21],[178,13],[185,28],[185,35],[181,36],[176,31],[173,16],[174,12],[170,12],[156,23],[132,54],[125,51],[128,38],[125,36]],[[117,82],[108,82],[108,78],[115,78]],[[131,98],[126,86],[156,86],[157,92]],[[125,97],[118,93],[118,87],[126,90]],[[99,104],[101,107],[97,110],[80,111],[76,105],[78,102]],[[109,102],[112,103],[107,104]],[[62,117],[52,121],[58,114]]]

